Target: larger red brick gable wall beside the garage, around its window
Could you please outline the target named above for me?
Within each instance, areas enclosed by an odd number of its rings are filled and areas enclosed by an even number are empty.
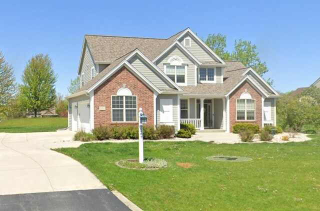
[[[137,124],[137,122],[111,122],[111,96],[116,95],[123,84],[130,89],[132,95],[137,96],[137,112],[139,107],[143,108],[144,115],[148,116],[147,124],[153,125],[153,91],[123,66],[94,90],[94,127]],[[105,106],[105,110],[99,110],[99,106]]]

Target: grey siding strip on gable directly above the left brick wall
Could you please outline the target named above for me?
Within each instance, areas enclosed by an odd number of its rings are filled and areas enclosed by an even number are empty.
[[[173,88],[172,85],[168,84],[162,76],[159,75],[155,70],[149,67],[141,58],[137,55],[130,59],[130,64],[141,72],[151,83],[158,88]]]

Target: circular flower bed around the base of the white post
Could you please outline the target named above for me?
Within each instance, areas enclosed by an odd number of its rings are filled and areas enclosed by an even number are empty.
[[[147,158],[142,163],[138,159],[123,159],[115,162],[115,164],[122,168],[141,169],[141,170],[156,170],[165,168],[167,163],[164,159]]]

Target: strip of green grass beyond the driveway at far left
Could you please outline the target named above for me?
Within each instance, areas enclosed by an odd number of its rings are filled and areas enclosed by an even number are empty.
[[[68,126],[66,117],[14,118],[0,122],[0,132],[45,132]]]

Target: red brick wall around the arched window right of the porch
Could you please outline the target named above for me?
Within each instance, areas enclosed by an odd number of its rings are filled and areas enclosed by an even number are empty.
[[[252,99],[255,99],[255,120],[236,120],[236,99],[240,98],[240,95],[246,91],[251,94]],[[261,127],[262,124],[262,99],[261,94],[253,88],[253,86],[244,81],[239,85],[229,97],[230,100],[230,132],[232,131],[232,125],[238,122],[251,122],[256,123]]]

